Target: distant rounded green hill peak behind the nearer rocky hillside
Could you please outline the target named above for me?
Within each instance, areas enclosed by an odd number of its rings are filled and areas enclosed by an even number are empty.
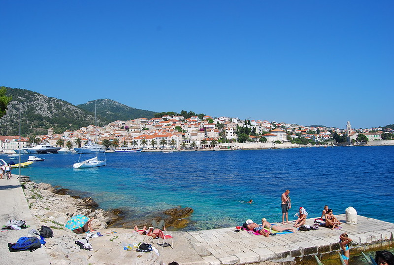
[[[153,118],[156,114],[155,112],[151,111],[131,108],[111,99],[92,100],[88,103],[77,105],[77,107],[82,110],[94,113],[95,104],[97,115],[110,121],[130,120],[135,118]]]

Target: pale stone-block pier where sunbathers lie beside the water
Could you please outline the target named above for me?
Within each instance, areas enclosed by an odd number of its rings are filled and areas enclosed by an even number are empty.
[[[347,232],[353,239],[351,253],[376,245],[384,246],[393,240],[394,224],[358,216],[357,225],[345,224],[345,215],[337,215],[343,224],[339,229],[320,227],[319,230],[296,231],[264,237],[246,231],[234,232],[235,227],[188,232],[195,246],[206,249],[211,255],[202,257],[206,265],[248,264],[264,261],[302,261],[313,254],[323,258],[339,251],[339,235]],[[314,218],[306,224],[312,225]],[[286,226],[285,226],[286,227]],[[203,264],[199,263],[182,263]]]

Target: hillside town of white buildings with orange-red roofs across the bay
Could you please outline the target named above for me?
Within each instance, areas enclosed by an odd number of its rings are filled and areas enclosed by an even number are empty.
[[[334,145],[391,140],[393,129],[354,130],[348,121],[346,130],[323,126],[301,126],[267,120],[240,120],[233,117],[164,115],[160,118],[116,120],[106,126],[89,125],[75,131],[21,138],[21,148],[49,144],[68,149],[97,142],[106,148],[134,147],[145,151],[160,149],[217,150]],[[387,143],[385,143],[387,144]],[[390,143],[389,143],[390,144]],[[19,148],[19,136],[0,136],[0,151]]]

